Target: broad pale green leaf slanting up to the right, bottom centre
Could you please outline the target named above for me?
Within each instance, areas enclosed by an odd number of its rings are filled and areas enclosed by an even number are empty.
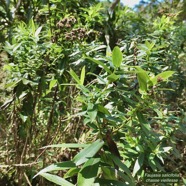
[[[104,142],[100,139],[93,142],[91,145],[81,150],[74,158],[73,162],[78,166],[85,163],[89,158],[92,158],[103,146]]]

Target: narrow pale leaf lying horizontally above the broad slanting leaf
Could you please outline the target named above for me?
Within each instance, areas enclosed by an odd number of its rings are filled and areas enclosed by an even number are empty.
[[[77,144],[77,143],[63,143],[63,144],[53,144],[53,145],[47,145],[45,147],[42,147],[40,149],[45,149],[45,148],[82,148],[82,147],[87,147],[89,144]]]

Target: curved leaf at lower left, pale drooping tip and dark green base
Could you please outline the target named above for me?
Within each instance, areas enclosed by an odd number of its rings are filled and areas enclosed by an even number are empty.
[[[72,161],[66,161],[66,162],[62,162],[62,163],[55,163],[55,164],[52,164],[42,170],[40,170],[35,176],[38,176],[38,175],[41,175],[42,173],[45,173],[45,172],[51,172],[51,171],[58,171],[58,170],[66,170],[66,169],[69,169],[69,168],[72,168],[72,167],[76,167],[75,163],[72,162]]]

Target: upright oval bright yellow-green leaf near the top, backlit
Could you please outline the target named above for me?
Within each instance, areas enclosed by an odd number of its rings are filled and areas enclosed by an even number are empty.
[[[118,46],[114,47],[112,51],[112,63],[113,65],[118,68],[121,66],[123,60],[123,54]]]

